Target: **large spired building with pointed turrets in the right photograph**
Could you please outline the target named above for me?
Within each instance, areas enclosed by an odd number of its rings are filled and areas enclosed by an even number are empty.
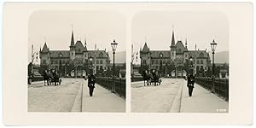
[[[187,44],[187,40],[185,45],[181,40],[175,42],[174,32],[170,50],[150,50],[145,43],[143,49],[140,49],[141,67],[143,70],[154,69],[172,76],[185,76],[189,68],[193,68],[194,74],[206,72],[211,64],[207,49],[189,50]]]

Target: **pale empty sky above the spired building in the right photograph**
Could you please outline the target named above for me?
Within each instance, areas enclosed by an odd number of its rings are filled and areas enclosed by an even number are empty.
[[[217,43],[216,52],[229,51],[229,22],[218,12],[193,11],[143,11],[131,21],[131,42],[134,51],[143,49],[170,49],[172,31],[175,42],[188,42],[188,49],[211,50],[210,43]],[[138,62],[139,63],[139,62]]]

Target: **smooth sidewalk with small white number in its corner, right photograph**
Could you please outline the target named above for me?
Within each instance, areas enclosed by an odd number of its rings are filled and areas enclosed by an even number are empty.
[[[225,102],[199,84],[195,84],[193,96],[189,97],[186,81],[183,82],[181,113],[226,113],[228,111],[229,102]]]

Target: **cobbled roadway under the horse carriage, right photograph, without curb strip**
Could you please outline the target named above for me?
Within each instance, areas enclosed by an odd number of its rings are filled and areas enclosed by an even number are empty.
[[[183,79],[162,79],[159,86],[144,86],[143,82],[131,83],[131,112],[170,112]]]

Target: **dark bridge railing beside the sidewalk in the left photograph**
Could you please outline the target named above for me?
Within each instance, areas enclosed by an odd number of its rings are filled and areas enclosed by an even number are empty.
[[[113,78],[110,77],[96,77],[96,83],[102,85],[107,90],[113,90]],[[126,95],[126,81],[122,78],[115,78],[115,92],[125,98]]]

